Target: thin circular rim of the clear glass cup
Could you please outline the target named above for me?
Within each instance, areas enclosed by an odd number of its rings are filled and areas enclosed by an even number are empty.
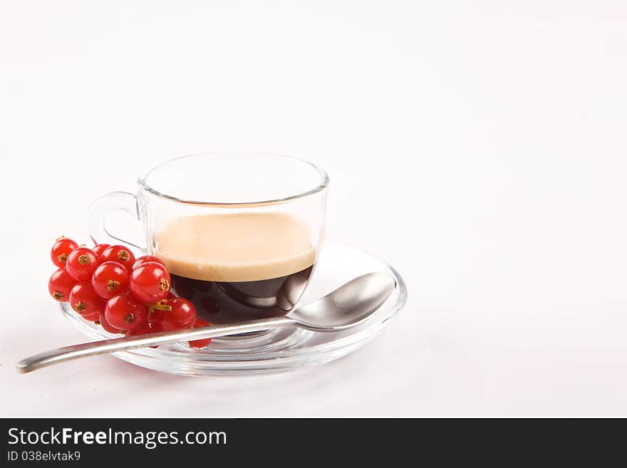
[[[284,158],[286,160],[292,160],[292,161],[296,161],[296,162],[301,162],[302,164],[308,165],[309,167],[314,169],[316,172],[318,172],[318,175],[320,176],[320,180],[319,180],[318,184],[316,185],[316,187],[314,187],[312,189],[309,189],[306,192],[301,192],[301,193],[298,193],[298,194],[289,195],[289,197],[282,197],[282,198],[276,198],[276,199],[266,199],[266,200],[254,200],[254,201],[249,201],[249,202],[212,202],[210,200],[202,200],[201,201],[201,200],[183,199],[183,198],[180,198],[180,197],[175,197],[173,195],[169,195],[169,194],[165,194],[165,193],[159,192],[157,189],[154,189],[154,188],[150,187],[150,185],[147,182],[148,177],[150,177],[150,174],[152,174],[152,172],[154,172],[155,170],[159,169],[160,167],[163,167],[163,166],[169,164],[170,162],[183,160],[183,159],[186,159],[188,157],[225,155],[225,154],[229,154],[229,153],[230,154],[246,153],[246,154],[249,154],[249,155],[274,156],[274,157],[282,157],[282,158]],[[212,152],[198,152],[198,153],[195,153],[193,155],[185,155],[185,156],[174,157],[174,158],[172,158],[170,160],[167,160],[167,161],[164,161],[164,162],[160,162],[156,166],[150,168],[150,170],[148,170],[148,172],[146,172],[146,174],[144,176],[138,177],[138,185],[142,189],[144,189],[146,192],[150,192],[151,194],[156,195],[157,197],[170,199],[170,200],[173,200],[175,202],[192,203],[192,204],[209,204],[209,205],[212,205],[212,206],[224,206],[224,207],[246,207],[246,206],[250,206],[250,205],[276,204],[276,203],[289,202],[290,200],[307,197],[308,195],[320,192],[321,190],[325,189],[328,186],[329,181],[330,181],[330,179],[329,179],[327,173],[324,170],[322,170],[321,167],[318,167],[317,165],[315,165],[313,162],[301,159],[299,157],[288,156],[288,155],[279,155],[278,153],[259,152],[259,151],[212,151]]]

